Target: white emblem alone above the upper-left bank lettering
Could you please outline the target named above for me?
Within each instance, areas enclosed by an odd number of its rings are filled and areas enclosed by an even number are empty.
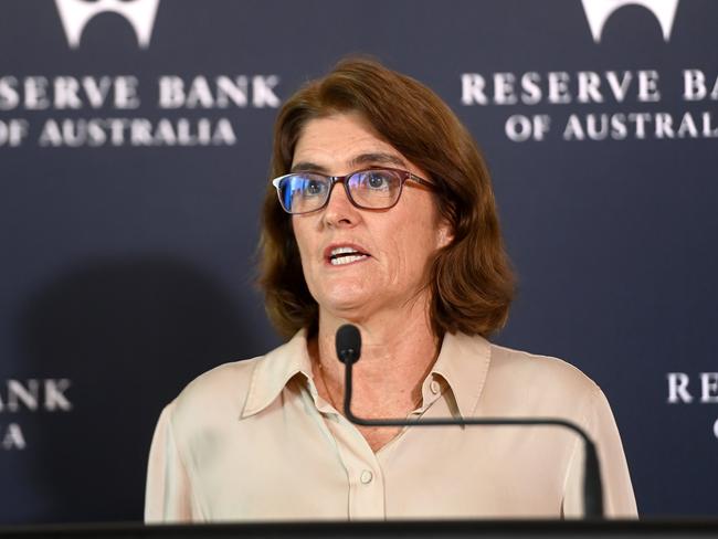
[[[159,0],[98,0],[95,2],[55,0],[55,6],[71,49],[80,46],[80,40],[87,23],[99,13],[106,12],[124,17],[135,30],[139,46],[147,49],[152,36]]]

